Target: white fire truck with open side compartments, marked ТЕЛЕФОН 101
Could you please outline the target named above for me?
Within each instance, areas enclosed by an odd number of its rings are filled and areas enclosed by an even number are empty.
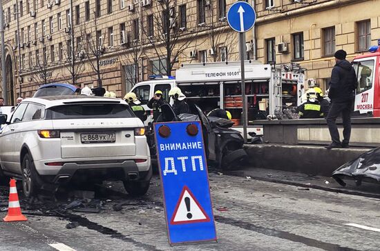
[[[268,114],[281,113],[283,108],[299,106],[305,92],[304,74],[289,67],[274,67],[258,61],[245,61],[245,90],[241,90],[240,61],[184,64],[175,71],[175,79],[152,77],[150,81],[137,83],[132,92],[146,103],[156,90],[168,97],[170,88],[178,86],[188,103],[196,103],[203,111],[214,108],[228,110],[234,121],[234,129],[243,132],[243,99],[245,91],[248,107],[248,132],[263,134],[254,120],[266,119]],[[150,123],[151,118],[146,123]]]

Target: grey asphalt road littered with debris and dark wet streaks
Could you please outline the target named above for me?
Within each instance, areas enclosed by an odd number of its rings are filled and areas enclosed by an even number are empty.
[[[218,242],[170,246],[160,180],[152,183],[140,199],[121,183],[104,184],[95,198],[104,201],[100,213],[21,200],[28,221],[0,222],[0,250],[380,250],[379,199],[218,174],[210,174]]]

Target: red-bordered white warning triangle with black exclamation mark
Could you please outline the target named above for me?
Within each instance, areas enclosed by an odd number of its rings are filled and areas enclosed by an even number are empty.
[[[180,199],[171,217],[171,225],[208,222],[210,218],[203,210],[200,203],[196,200],[193,193],[185,185],[182,189]]]

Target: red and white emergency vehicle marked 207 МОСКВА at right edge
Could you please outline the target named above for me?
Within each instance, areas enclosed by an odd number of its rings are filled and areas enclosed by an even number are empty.
[[[354,115],[380,117],[380,46],[372,46],[369,54],[354,58],[358,88],[355,95]]]

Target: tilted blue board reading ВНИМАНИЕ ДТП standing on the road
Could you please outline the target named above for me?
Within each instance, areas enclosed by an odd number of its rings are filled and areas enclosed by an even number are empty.
[[[154,130],[169,243],[216,241],[200,122],[155,123]]]

